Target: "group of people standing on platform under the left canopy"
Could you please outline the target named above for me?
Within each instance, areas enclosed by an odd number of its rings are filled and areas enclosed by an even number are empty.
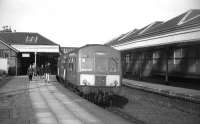
[[[50,73],[51,71],[50,71],[49,64],[45,65],[45,67],[43,65],[41,65],[41,67],[30,65],[27,70],[29,81],[32,81],[33,76],[37,76],[39,78],[45,78],[49,80]]]

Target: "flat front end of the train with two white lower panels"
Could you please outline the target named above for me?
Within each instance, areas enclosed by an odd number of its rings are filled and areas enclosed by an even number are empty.
[[[78,80],[84,94],[116,94],[122,81],[120,52],[103,45],[81,49]]]

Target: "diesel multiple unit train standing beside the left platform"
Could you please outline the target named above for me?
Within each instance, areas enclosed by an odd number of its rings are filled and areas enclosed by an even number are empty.
[[[120,52],[105,45],[86,45],[61,55],[57,72],[58,80],[79,94],[105,100],[121,87]]]

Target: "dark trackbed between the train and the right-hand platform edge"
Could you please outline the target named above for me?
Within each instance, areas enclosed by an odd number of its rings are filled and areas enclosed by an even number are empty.
[[[112,100],[112,106],[101,103],[94,104],[134,124],[163,122],[165,124],[170,122],[181,124],[199,121],[199,104],[144,90],[123,86],[122,91],[114,95]],[[183,116],[187,118],[186,122],[176,118]]]

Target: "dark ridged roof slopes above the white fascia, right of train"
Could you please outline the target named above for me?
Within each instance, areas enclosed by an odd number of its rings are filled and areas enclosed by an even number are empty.
[[[166,22],[156,21],[128,35],[120,41],[112,42],[112,45],[134,41],[145,37],[152,37],[180,30],[187,30],[200,26],[200,10],[189,10]]]

